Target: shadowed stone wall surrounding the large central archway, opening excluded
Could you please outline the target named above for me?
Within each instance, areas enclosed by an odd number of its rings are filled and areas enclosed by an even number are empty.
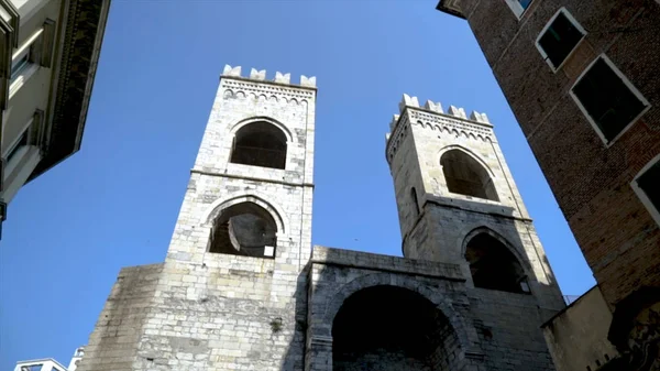
[[[539,329],[547,313],[536,297],[471,288],[465,281],[457,264],[315,247],[307,338],[316,364],[310,370],[330,369],[323,367],[331,364],[334,314],[344,299],[384,285],[422,295],[447,316],[458,350],[440,348],[436,360],[448,370],[554,370]],[[320,341],[323,338],[328,340]],[[375,361],[376,356],[370,353],[369,359]]]

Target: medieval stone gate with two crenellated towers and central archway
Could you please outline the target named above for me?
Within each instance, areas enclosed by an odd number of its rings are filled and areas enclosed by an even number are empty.
[[[312,249],[316,97],[226,66],[165,262],[120,272],[78,371],[554,370],[564,304],[487,117],[405,95],[405,258]]]

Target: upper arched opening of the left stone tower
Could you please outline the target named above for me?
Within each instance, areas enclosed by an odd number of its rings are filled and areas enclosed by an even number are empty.
[[[239,129],[230,162],[272,168],[286,165],[286,135],[266,121],[252,122]]]

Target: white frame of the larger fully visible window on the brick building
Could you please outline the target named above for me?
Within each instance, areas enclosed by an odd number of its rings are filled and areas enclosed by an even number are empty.
[[[630,90],[630,92],[632,92],[632,95],[635,95],[635,97],[637,99],[639,99],[639,101],[645,106],[645,108],[632,120],[630,120],[630,122],[628,122],[624,127],[624,129],[622,129],[622,131],[619,131],[618,134],[616,134],[612,140],[607,140],[607,138],[605,137],[605,134],[603,133],[603,131],[601,131],[601,128],[598,128],[598,124],[594,121],[594,119],[592,118],[592,116],[590,114],[590,112],[582,105],[582,101],[580,100],[580,98],[578,98],[578,96],[573,91],[573,89],[575,88],[575,86],[580,81],[582,81],[582,79],[584,78],[584,76],[591,70],[591,68],[600,59],[603,59],[607,64],[607,66],[622,79],[622,81]],[[584,117],[586,118],[586,121],[592,126],[592,128],[594,129],[594,131],[596,132],[596,134],[598,135],[598,138],[601,138],[601,140],[603,141],[603,143],[605,144],[606,148],[612,146],[623,134],[626,133],[626,131],[628,131],[651,108],[651,103],[635,87],[635,85],[632,85],[632,83],[630,83],[630,80],[628,80],[628,78],[626,77],[626,75],[624,75],[624,73],[620,69],[618,69],[618,67],[614,64],[614,62],[612,62],[612,59],[609,59],[609,57],[607,57],[607,55],[605,53],[601,53],[600,55],[597,55],[584,68],[584,70],[582,70],[582,74],[580,74],[580,76],[575,79],[575,83],[573,83],[573,85],[569,89],[569,95],[571,96],[571,98],[573,99],[573,101],[575,102],[575,105],[578,105],[578,108],[580,109],[580,111],[582,112],[582,114],[584,114]]]

